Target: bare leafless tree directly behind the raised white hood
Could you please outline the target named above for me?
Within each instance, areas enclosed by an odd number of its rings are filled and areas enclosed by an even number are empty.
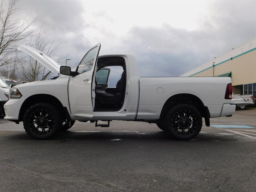
[[[56,37],[52,40],[48,39],[44,25],[36,31],[36,35],[31,38],[28,45],[50,57],[54,57],[60,48],[59,40]],[[20,79],[26,82],[41,80],[48,72],[48,69],[30,56],[22,59],[19,69]]]

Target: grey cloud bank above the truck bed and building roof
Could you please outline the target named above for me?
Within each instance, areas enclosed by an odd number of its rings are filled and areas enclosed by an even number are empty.
[[[179,76],[256,36],[256,3],[243,2],[215,2],[196,31],[168,24],[133,27],[124,45],[136,56],[141,76]]]

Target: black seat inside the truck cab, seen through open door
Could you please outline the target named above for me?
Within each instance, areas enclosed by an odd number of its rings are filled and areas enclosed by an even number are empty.
[[[123,71],[121,78],[116,83],[115,94],[110,94],[108,92],[96,91],[97,100],[101,103],[121,103],[125,88],[125,73]],[[106,88],[107,90],[107,88]]]

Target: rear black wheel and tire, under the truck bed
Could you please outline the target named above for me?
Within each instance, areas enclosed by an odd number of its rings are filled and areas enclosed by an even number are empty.
[[[201,131],[202,116],[194,106],[178,104],[166,113],[164,125],[174,138],[190,140]]]

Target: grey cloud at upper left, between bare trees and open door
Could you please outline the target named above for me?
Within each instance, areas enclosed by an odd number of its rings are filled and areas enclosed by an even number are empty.
[[[82,30],[88,24],[82,17],[84,8],[79,1],[20,1],[20,15],[37,18],[35,27],[44,24],[47,36],[57,37],[61,42],[59,55],[68,55],[70,64],[77,63],[77,56],[82,57],[90,48],[89,39]],[[73,34],[73,35],[68,35]]]

